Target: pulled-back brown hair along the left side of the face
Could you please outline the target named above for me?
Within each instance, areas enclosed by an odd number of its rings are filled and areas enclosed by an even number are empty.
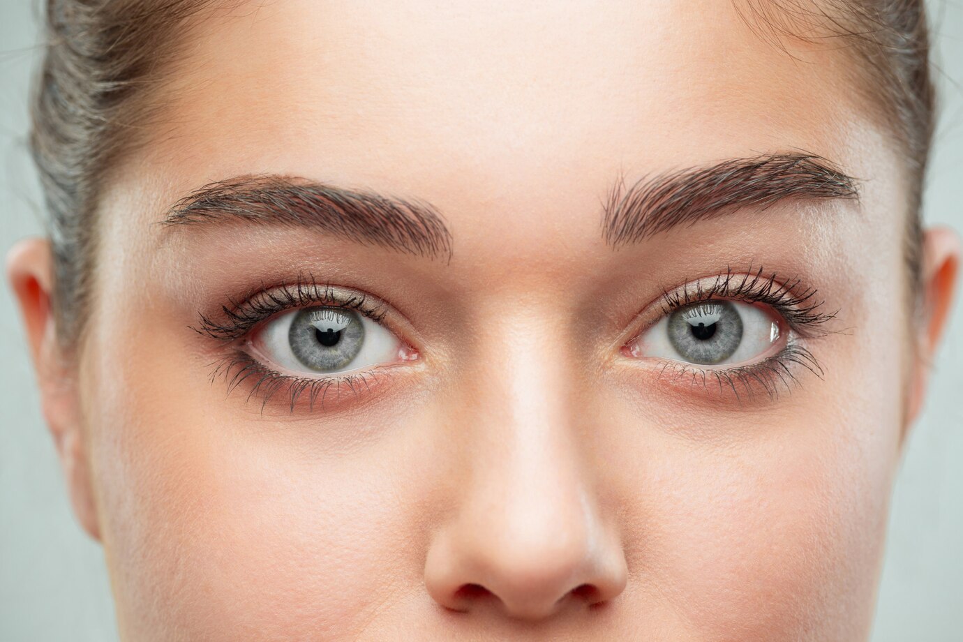
[[[46,55],[30,135],[54,252],[54,310],[66,346],[83,331],[107,173],[149,119],[148,90],[178,29],[210,0],[47,0]],[[176,38],[175,38],[176,37]]]

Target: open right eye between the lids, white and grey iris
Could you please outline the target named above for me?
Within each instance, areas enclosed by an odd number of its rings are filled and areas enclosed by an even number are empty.
[[[739,364],[782,343],[774,313],[739,301],[711,299],[676,308],[632,342],[633,356],[701,366]]]

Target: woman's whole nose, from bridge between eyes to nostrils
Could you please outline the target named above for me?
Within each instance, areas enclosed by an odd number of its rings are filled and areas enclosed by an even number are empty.
[[[463,473],[429,544],[425,584],[457,611],[523,620],[587,611],[622,592],[627,569],[580,456],[585,413],[573,414],[560,364],[544,353],[511,361],[473,386],[487,393],[459,404]]]

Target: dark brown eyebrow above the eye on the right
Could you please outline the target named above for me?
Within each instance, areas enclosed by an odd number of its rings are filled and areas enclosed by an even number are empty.
[[[635,244],[679,225],[787,199],[857,199],[855,179],[809,153],[768,154],[642,177],[620,178],[606,201],[602,233],[612,247]]]

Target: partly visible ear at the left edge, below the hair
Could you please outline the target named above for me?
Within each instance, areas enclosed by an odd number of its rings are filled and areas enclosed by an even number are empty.
[[[76,366],[57,339],[51,306],[53,255],[46,239],[25,239],[7,255],[7,277],[20,305],[34,360],[43,417],[57,446],[70,501],[81,526],[100,539],[88,459],[81,432]]]

